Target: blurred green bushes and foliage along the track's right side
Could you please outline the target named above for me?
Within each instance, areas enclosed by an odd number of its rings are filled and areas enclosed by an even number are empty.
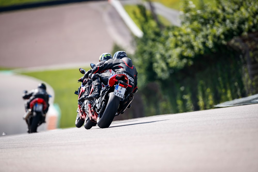
[[[209,109],[257,93],[248,89],[243,51],[229,44],[258,31],[257,1],[182,4],[182,26],[163,29],[138,5],[144,35],[136,38],[134,62],[147,116]]]

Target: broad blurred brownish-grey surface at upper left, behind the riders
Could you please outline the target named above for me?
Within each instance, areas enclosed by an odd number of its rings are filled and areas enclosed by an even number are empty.
[[[88,64],[132,40],[108,1],[0,13],[0,23],[1,67]]]

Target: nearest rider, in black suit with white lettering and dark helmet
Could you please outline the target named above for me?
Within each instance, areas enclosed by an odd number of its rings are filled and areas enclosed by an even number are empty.
[[[125,51],[117,51],[113,58],[106,61],[102,65],[96,65],[92,72],[90,73],[90,78],[92,79],[94,91],[90,96],[87,96],[87,100],[94,100],[98,99],[100,96],[100,90],[101,90],[101,81],[104,84],[108,83],[108,79],[113,73],[99,73],[103,70],[112,69],[116,74],[117,73],[123,73],[127,75],[129,79],[129,84],[132,85],[132,87],[127,87],[127,92],[129,93],[136,93],[138,91],[137,87],[137,75],[138,72],[136,71],[136,68],[134,67],[132,60],[128,58]]]

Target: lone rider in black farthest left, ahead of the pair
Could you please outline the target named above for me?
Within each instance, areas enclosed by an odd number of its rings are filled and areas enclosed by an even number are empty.
[[[44,114],[47,113],[48,109],[49,109],[49,94],[47,94],[46,92],[46,85],[44,83],[39,83],[38,87],[36,89],[33,89],[29,92],[25,92],[22,95],[23,99],[29,99],[28,101],[25,102],[25,111],[27,112],[27,110],[30,108],[30,102],[32,100],[34,100],[35,98],[42,98],[45,100],[46,102],[46,109],[43,111]],[[27,121],[26,121],[27,122]],[[42,123],[45,122],[45,117],[43,117],[42,119]]]

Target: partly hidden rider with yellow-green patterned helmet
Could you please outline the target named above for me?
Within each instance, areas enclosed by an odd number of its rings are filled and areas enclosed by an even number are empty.
[[[112,59],[112,55],[110,53],[103,53],[99,57],[99,62],[96,64],[98,66],[104,64],[107,60]],[[92,83],[92,79],[88,78],[89,74],[92,72],[92,69],[85,72],[84,76],[78,79],[78,81],[82,82],[85,85],[85,92],[84,94],[78,99],[79,102],[84,102],[86,97],[89,95],[90,85]],[[111,73],[111,70],[105,71]]]

